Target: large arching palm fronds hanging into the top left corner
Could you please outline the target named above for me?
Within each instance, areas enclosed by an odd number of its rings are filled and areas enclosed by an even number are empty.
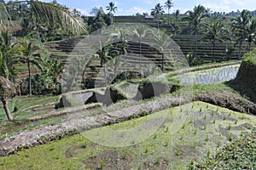
[[[34,26],[38,26],[38,23],[54,24],[59,25],[61,28],[72,31],[73,33],[80,33],[86,31],[86,26],[83,20],[79,17],[74,16],[69,8],[60,6],[55,3],[45,3],[42,1],[24,0],[24,1],[13,1],[7,3],[0,3],[0,23],[9,22],[9,12],[7,5],[13,4],[27,4],[29,7],[28,15],[31,15]],[[6,24],[2,25],[2,29],[6,28]],[[38,40],[40,40],[38,27],[37,27]]]

